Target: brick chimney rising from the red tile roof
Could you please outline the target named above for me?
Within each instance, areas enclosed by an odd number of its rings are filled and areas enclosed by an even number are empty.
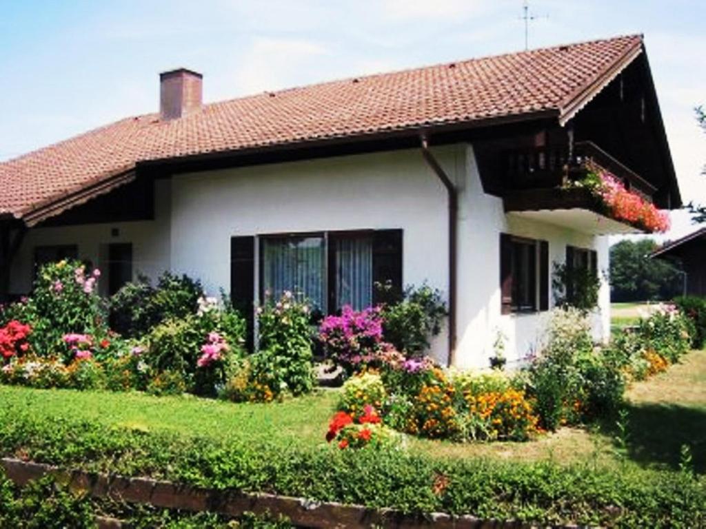
[[[203,75],[186,68],[160,73],[160,118],[181,118],[201,109]]]

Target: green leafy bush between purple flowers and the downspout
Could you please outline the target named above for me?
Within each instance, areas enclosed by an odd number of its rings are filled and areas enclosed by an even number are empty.
[[[447,315],[438,290],[426,285],[407,287],[399,303],[383,307],[383,336],[397,351],[421,356],[429,349],[429,339],[441,332]]]

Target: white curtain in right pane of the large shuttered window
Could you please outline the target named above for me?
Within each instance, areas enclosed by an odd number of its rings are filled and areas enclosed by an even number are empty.
[[[373,303],[372,238],[337,239],[335,252],[337,308],[344,305],[351,305],[355,310],[370,307]]]

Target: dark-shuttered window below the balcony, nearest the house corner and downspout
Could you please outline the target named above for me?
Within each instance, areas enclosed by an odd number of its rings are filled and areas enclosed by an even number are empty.
[[[549,243],[501,233],[502,313],[549,309]]]

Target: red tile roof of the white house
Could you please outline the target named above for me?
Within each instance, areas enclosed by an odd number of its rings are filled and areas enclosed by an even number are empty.
[[[117,121],[0,164],[0,214],[26,217],[138,162],[446,126],[585,104],[642,50],[639,35],[349,78]]]

